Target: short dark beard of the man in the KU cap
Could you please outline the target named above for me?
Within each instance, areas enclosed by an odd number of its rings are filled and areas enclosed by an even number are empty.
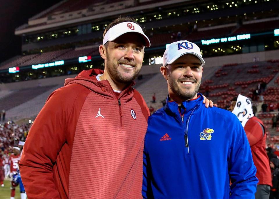
[[[194,83],[196,83],[194,89],[192,89],[192,88],[191,89],[182,89],[179,87],[180,81],[186,81],[186,80],[193,81]],[[168,75],[168,83],[169,83],[169,87],[172,90],[172,92],[174,92],[174,94],[176,94],[176,96],[178,96],[179,98],[183,99],[183,101],[185,101],[185,100],[192,99],[198,93],[198,90],[201,85],[201,80],[197,81],[192,78],[183,78],[183,79],[178,79],[176,81]]]

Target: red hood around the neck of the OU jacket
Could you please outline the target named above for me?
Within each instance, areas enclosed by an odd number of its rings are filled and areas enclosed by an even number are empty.
[[[103,73],[104,71],[100,69],[83,70],[75,78],[65,79],[64,86],[77,83],[83,85],[84,87],[87,87],[88,89],[94,91],[97,94],[103,95],[106,98],[115,98],[115,94],[108,80],[98,81],[96,79],[97,75]],[[135,82],[132,82],[126,89],[124,89],[119,95],[119,98],[133,93],[133,88],[131,86],[134,84]]]

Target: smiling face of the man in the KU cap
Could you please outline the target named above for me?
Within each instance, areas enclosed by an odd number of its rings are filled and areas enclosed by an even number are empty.
[[[201,85],[203,67],[201,61],[192,54],[185,54],[174,63],[161,67],[168,82],[169,97],[181,103],[197,97]]]

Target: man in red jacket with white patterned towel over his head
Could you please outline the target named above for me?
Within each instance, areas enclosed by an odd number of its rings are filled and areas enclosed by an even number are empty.
[[[254,116],[252,103],[249,98],[238,95],[232,99],[229,110],[234,113],[241,122],[248,138],[254,164],[257,168],[256,177],[259,179],[255,199],[269,199],[271,183],[271,171],[269,158],[265,150],[266,137],[263,122]]]

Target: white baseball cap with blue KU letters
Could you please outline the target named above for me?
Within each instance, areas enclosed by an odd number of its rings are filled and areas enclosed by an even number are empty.
[[[163,66],[174,63],[185,54],[195,55],[201,61],[201,64],[205,65],[200,48],[192,42],[181,40],[169,44],[163,55]]]

